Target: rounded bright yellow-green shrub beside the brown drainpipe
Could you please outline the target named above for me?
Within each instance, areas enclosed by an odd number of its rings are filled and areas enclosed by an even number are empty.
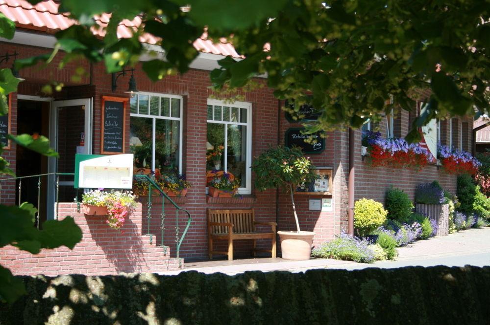
[[[386,221],[388,211],[383,204],[362,198],[354,204],[354,226],[359,236],[369,235]]]

